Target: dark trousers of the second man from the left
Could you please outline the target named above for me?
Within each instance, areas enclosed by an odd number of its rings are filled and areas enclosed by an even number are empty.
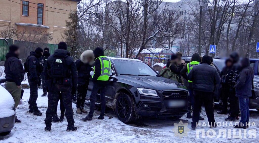
[[[31,80],[28,78],[28,82],[30,85],[30,98],[29,98],[29,108],[34,108],[37,106],[37,99],[38,99],[38,81]]]

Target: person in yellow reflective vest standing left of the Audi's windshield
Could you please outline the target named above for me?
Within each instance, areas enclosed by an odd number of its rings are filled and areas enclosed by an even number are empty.
[[[98,119],[103,119],[105,112],[105,86],[108,83],[109,75],[111,72],[111,61],[109,58],[104,56],[103,48],[97,47],[93,50],[93,54],[95,55],[95,66],[94,74],[92,76],[93,88],[92,93],[90,95],[90,111],[89,114],[81,119],[81,121],[90,121],[93,117],[93,112],[95,110],[95,101],[97,92],[100,90],[101,95],[101,113]]]

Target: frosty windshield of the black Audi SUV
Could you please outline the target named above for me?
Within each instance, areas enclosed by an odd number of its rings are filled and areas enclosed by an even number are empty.
[[[114,67],[118,74],[138,75],[138,76],[157,76],[157,73],[147,64],[133,60],[113,60]]]

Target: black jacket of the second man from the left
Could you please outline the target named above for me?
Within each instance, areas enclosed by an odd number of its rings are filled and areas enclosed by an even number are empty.
[[[42,66],[40,64],[41,55],[37,54],[36,52],[32,51],[30,56],[28,56],[26,60],[26,69],[27,69],[27,76],[30,80],[38,81],[40,80],[40,75],[42,72]]]

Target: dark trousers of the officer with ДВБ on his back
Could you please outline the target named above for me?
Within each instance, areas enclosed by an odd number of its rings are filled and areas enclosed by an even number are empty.
[[[74,125],[74,112],[72,108],[72,95],[71,95],[71,86],[70,85],[61,85],[55,83],[52,85],[50,95],[48,97],[48,109],[46,111],[46,126],[51,126],[52,117],[56,114],[56,107],[59,102],[60,96],[63,101],[66,113],[68,125]]]

